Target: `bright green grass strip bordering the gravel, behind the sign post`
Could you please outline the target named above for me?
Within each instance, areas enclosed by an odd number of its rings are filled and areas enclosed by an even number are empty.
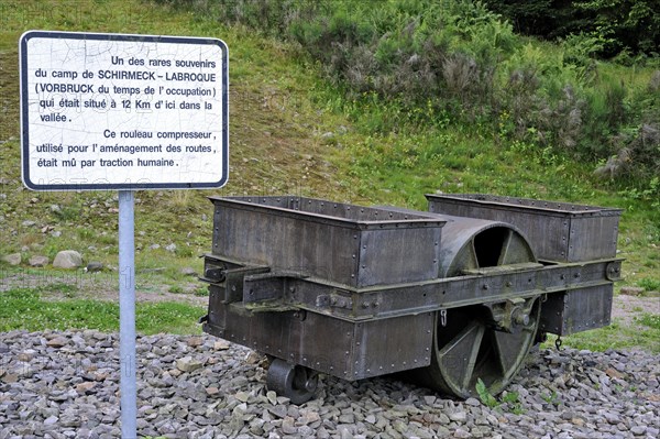
[[[119,330],[118,304],[91,299],[48,300],[42,295],[44,290],[61,288],[62,286],[16,288],[0,294],[0,331]],[[197,320],[204,314],[204,308],[186,304],[139,303],[135,309],[135,327],[138,332],[143,334],[200,333]]]

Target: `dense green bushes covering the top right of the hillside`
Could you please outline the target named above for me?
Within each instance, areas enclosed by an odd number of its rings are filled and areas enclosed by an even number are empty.
[[[550,3],[520,8],[548,12]],[[653,134],[660,74],[644,92],[604,79],[595,57],[608,51],[618,30],[585,24],[580,33],[575,23],[594,13],[598,20],[605,12],[612,15],[609,3],[631,12],[630,6],[594,0],[562,2],[562,8],[569,3],[579,4],[580,17],[552,50],[521,44],[513,26],[480,1],[206,0],[193,8],[297,42],[345,92],[340,110],[374,134],[444,127],[448,120],[490,125],[498,140],[552,147],[593,163],[609,161],[600,175],[648,194],[648,177],[658,174],[660,157]],[[640,8],[632,8],[636,23],[646,23],[648,10]],[[553,19],[568,17],[563,11]]]

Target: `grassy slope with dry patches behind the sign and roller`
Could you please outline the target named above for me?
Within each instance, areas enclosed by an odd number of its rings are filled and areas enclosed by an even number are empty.
[[[4,2],[0,26],[0,254],[24,257],[76,249],[87,261],[117,264],[114,193],[47,194],[20,184],[18,39],[29,29],[220,37],[230,48],[230,183],[222,194],[294,193],[424,209],[424,194],[481,191],[561,199],[626,209],[619,249],[627,284],[660,282],[659,213],[601,188],[591,165],[525,144],[497,141],[498,127],[461,127],[373,134],[388,117],[378,106],[340,105],[318,68],[296,50],[244,29],[148,2]],[[326,134],[332,133],[332,135]],[[8,141],[9,140],[9,141]],[[178,288],[180,266],[210,245],[210,205],[218,191],[143,191],[136,198],[138,268],[163,267],[158,282]],[[62,212],[50,206],[57,204]],[[23,226],[24,220],[36,226]],[[63,232],[53,238],[43,228]],[[163,248],[174,242],[172,254]],[[161,249],[150,250],[158,243]]]

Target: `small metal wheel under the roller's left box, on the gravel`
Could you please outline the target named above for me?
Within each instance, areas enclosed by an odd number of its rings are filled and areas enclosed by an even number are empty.
[[[294,404],[311,399],[319,383],[319,374],[311,369],[275,359],[266,374],[268,389],[285,396]]]

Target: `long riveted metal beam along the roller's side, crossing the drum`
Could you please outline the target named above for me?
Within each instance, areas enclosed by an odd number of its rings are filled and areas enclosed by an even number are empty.
[[[359,321],[610,285],[620,278],[620,263],[514,264],[481,268],[479,274],[366,288],[274,273],[246,276],[241,288],[245,303],[276,298],[301,309]]]

